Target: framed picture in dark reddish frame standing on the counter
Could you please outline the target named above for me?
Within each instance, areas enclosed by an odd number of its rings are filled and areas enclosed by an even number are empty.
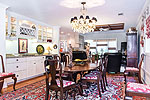
[[[27,53],[28,52],[28,40],[27,39],[18,39],[18,52]]]

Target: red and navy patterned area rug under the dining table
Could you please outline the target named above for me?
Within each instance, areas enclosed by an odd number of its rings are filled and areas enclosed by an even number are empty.
[[[92,84],[89,89],[84,89],[84,94],[88,94],[88,97],[76,95],[76,100],[123,100],[122,88],[123,77],[108,77],[107,91],[102,93],[102,97],[99,97],[97,85]],[[134,79],[132,79],[134,80]],[[0,100],[44,100],[45,99],[45,80],[38,81],[36,83],[19,88],[16,91],[11,91],[3,94]],[[67,98],[73,100],[71,96]],[[50,100],[57,100],[55,98],[55,92],[50,91]],[[58,93],[59,100],[59,93]]]

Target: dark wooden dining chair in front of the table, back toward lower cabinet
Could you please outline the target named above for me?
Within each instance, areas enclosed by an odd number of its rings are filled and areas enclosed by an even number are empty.
[[[45,60],[45,73],[46,73],[46,95],[45,100],[49,99],[49,90],[60,91],[60,100],[66,99],[68,97],[68,91],[71,90],[71,94],[75,99],[76,95],[76,83],[73,81],[63,80],[61,77],[62,74],[62,64],[59,60]],[[59,69],[59,78],[56,78],[56,69]],[[51,77],[49,76],[51,75]],[[51,78],[51,80],[50,80]],[[50,83],[49,83],[50,81]],[[63,97],[63,93],[65,93],[65,98]]]

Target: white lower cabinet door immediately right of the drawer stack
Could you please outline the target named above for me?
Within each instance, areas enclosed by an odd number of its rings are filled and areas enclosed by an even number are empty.
[[[27,62],[27,76],[31,77],[36,75],[36,61]]]

